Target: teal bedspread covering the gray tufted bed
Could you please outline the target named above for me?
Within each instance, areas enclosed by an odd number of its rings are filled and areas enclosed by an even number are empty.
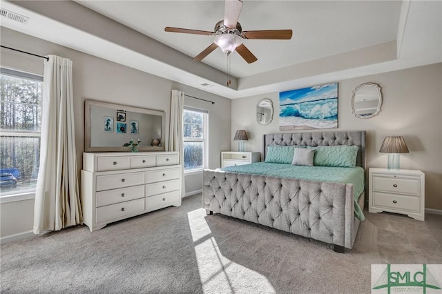
[[[243,166],[228,166],[221,168],[221,170],[232,173],[293,177],[321,182],[353,184],[354,215],[361,221],[365,219],[363,211],[358,204],[358,197],[364,190],[364,170],[360,166],[354,168],[333,168],[328,166],[292,166],[291,164],[256,162]]]

